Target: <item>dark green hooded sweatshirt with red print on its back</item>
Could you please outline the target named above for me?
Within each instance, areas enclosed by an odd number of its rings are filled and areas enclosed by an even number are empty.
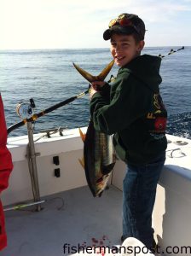
[[[95,129],[114,134],[121,160],[146,164],[165,152],[167,113],[159,95],[161,59],[140,55],[119,68],[117,78],[90,102]]]

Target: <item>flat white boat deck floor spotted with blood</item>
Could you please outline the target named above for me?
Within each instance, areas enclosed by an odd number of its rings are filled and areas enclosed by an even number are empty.
[[[42,207],[6,212],[9,244],[1,256],[63,256],[74,253],[72,247],[120,243],[122,192],[113,186],[100,198],[87,186],[68,190],[49,196]]]

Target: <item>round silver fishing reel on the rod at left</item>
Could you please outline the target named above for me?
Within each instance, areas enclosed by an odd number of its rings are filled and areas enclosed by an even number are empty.
[[[34,108],[36,108],[33,99],[29,100],[29,103],[20,102],[16,105],[16,113],[21,119],[27,119],[34,113]]]

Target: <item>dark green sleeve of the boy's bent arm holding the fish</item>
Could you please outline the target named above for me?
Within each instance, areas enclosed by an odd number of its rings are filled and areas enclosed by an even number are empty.
[[[144,96],[143,90],[148,90],[132,75],[122,76],[113,84],[111,102],[108,104],[100,93],[96,93],[90,102],[90,113],[93,117],[95,129],[107,134],[122,131],[136,119],[147,113],[148,95]]]

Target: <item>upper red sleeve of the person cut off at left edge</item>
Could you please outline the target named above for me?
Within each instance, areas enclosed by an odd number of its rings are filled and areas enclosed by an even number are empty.
[[[11,154],[6,144],[7,127],[4,118],[3,101],[0,94],[0,193],[8,187],[9,175],[13,169]]]

